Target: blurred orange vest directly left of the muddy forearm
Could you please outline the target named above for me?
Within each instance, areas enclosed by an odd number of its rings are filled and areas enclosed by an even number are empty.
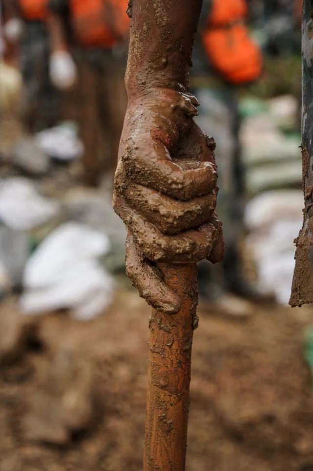
[[[129,30],[127,0],[70,0],[77,41],[89,47],[112,47]]]

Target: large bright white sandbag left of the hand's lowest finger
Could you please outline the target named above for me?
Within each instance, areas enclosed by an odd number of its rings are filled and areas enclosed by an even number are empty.
[[[107,235],[83,224],[68,222],[57,228],[26,263],[21,311],[42,314],[70,308],[80,320],[101,314],[113,299],[114,282],[97,258],[109,247]]]

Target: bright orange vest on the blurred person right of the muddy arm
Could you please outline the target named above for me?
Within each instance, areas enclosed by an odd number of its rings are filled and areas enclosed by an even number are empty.
[[[209,61],[232,84],[249,83],[262,71],[259,47],[245,25],[248,8],[244,0],[213,0],[202,43]]]

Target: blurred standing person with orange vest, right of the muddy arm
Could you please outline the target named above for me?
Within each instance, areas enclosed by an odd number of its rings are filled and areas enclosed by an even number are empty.
[[[245,24],[247,14],[244,0],[205,0],[193,53],[190,85],[201,104],[195,120],[216,142],[215,149],[210,140],[218,162],[217,211],[226,245],[221,265],[199,265],[200,295],[209,300],[218,300],[227,292],[247,299],[264,297],[245,276],[238,247],[245,234],[245,183],[237,91],[262,71],[261,51]]]

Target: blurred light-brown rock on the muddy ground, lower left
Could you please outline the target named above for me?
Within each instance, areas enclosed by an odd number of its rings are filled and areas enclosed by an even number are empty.
[[[64,445],[93,419],[92,372],[63,347],[52,358],[25,415],[26,440]]]

